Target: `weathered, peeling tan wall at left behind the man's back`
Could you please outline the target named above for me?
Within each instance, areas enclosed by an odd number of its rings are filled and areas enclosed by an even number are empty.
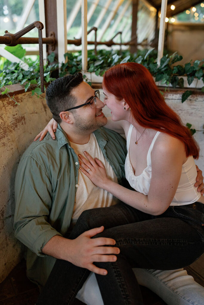
[[[0,99],[0,282],[23,255],[23,247],[13,235],[14,180],[25,149],[50,119],[45,99],[31,92],[16,95],[20,105]]]

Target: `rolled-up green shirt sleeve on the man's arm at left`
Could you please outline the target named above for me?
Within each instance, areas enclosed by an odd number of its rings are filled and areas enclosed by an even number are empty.
[[[49,223],[52,185],[43,164],[32,156],[21,159],[15,181],[15,236],[38,256],[55,235],[61,235]]]

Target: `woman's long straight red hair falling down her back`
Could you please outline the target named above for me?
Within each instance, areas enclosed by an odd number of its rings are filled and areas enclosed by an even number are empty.
[[[138,63],[121,63],[107,70],[103,86],[124,99],[131,108],[132,117],[139,125],[165,132],[185,145],[186,156],[198,159],[199,146],[178,114],[166,103],[150,72]],[[161,130],[162,128],[162,130]]]

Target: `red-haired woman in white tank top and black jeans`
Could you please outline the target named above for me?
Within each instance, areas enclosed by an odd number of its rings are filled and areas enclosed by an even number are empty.
[[[143,66],[125,63],[112,67],[104,75],[103,90],[112,120],[120,121],[114,130],[125,132],[126,178],[138,192],[110,181],[103,164],[88,152],[84,152],[86,158],[80,156],[81,171],[126,203],[126,213],[132,217],[128,224],[118,221],[118,226],[111,228],[118,207],[109,213],[100,236],[115,239],[121,253],[116,262],[106,263],[106,277],[97,275],[97,280],[105,304],[140,304],[132,267],[179,268],[204,251],[204,198],[194,187],[193,157],[198,158],[199,149]],[[98,220],[104,221],[103,209],[97,210]],[[79,221],[93,219],[94,213],[82,213]],[[97,266],[104,267],[103,263]]]

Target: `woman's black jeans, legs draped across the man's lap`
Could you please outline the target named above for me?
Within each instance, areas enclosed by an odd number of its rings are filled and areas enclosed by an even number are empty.
[[[74,239],[91,228],[105,227],[96,237],[116,240],[116,262],[95,263],[108,271],[96,274],[105,305],[143,304],[132,267],[170,270],[191,264],[204,252],[203,204],[170,206],[152,216],[124,203],[84,211],[69,235]],[[57,260],[37,305],[72,304],[90,271]]]

